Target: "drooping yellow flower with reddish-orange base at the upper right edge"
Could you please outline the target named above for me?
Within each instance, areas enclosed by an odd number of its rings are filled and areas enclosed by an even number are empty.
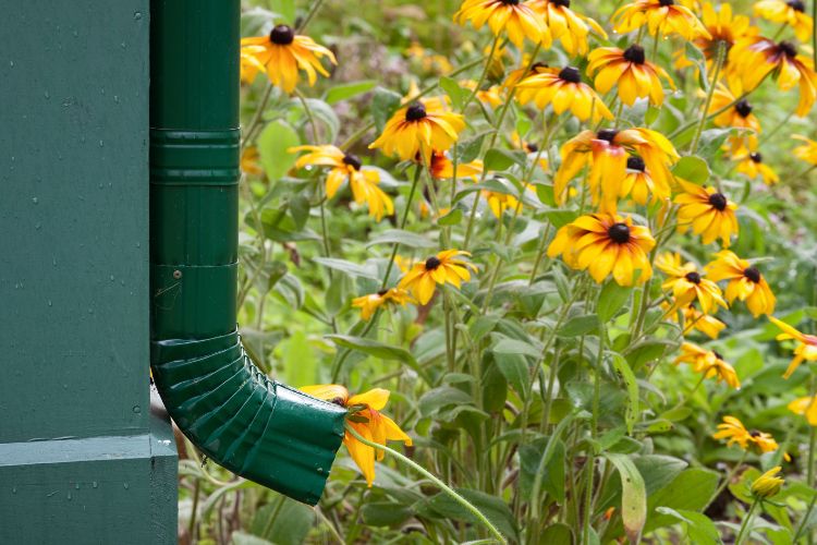
[[[797,52],[791,41],[775,41],[760,36],[749,36],[737,40],[729,52],[729,62],[745,92],[757,87],[769,74],[777,81],[781,90],[789,90],[800,84],[800,101],[795,113],[805,117],[817,100],[817,74],[814,61]]]

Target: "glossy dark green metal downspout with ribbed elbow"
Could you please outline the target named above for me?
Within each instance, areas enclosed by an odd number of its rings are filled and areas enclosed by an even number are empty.
[[[235,325],[239,17],[239,0],[151,2],[150,365],[212,461],[315,505],[345,410],[269,379]]]

